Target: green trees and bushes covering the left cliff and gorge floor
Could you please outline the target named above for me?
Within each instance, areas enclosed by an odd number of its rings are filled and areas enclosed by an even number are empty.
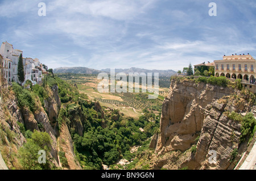
[[[76,86],[57,76],[46,76],[41,85],[27,82],[27,85],[22,87],[13,83],[13,87],[9,89],[14,92],[19,109],[30,111],[28,121],[31,121],[33,114],[40,112],[42,108],[49,113],[46,103],[48,99],[53,99],[50,96],[56,87],[61,104],[58,114],[51,120],[52,128],[59,132],[57,136],[62,130],[61,127],[68,127],[75,159],[84,169],[102,169],[102,163],[110,166],[120,158],[130,161],[135,157],[130,148],[148,144],[148,138],[159,128],[159,118],[156,118],[154,113],[144,110],[144,115],[134,119],[123,116],[118,110],[98,107],[96,102],[88,100],[86,94],[80,93]],[[44,125],[38,122],[33,130],[27,127],[26,121],[16,121],[26,141],[22,146],[17,145],[15,157],[19,158],[16,161],[18,166],[12,165],[12,168],[56,169],[53,164],[54,155],[50,149],[52,139],[46,133]],[[139,128],[143,128],[143,131]],[[39,150],[46,151],[46,165],[38,163]],[[61,165],[68,168],[69,163],[64,151],[60,148],[57,154]]]

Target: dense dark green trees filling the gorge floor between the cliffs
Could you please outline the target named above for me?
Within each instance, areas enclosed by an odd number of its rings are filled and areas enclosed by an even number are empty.
[[[40,102],[47,99],[48,89],[57,85],[61,108],[57,117],[59,128],[67,124],[72,134],[76,159],[84,169],[102,169],[105,165],[114,165],[120,158],[130,160],[135,153],[130,153],[131,146],[143,145],[156,129],[159,128],[159,118],[153,112],[149,112],[154,100],[147,99],[147,94],[129,94],[122,98],[133,103],[134,100],[144,100],[148,107],[144,108],[144,115],[139,119],[124,117],[118,110],[101,112],[94,110],[94,102],[88,100],[86,94],[79,92],[76,86],[60,79],[55,75],[48,75],[43,79],[42,86],[35,85],[30,94],[38,95]],[[75,85],[75,83],[74,83]],[[126,93],[125,93],[126,94]],[[160,110],[160,104],[154,104],[151,110]],[[81,123],[82,133],[77,132],[76,123]],[[104,126],[102,126],[104,125]],[[139,128],[143,128],[142,132]],[[26,133],[26,132],[25,132]],[[63,167],[68,167],[67,158],[63,151],[59,151],[60,162]],[[132,165],[131,165],[132,166]],[[130,167],[131,167],[130,166]]]

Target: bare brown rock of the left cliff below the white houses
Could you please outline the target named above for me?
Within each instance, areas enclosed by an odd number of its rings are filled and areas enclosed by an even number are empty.
[[[10,152],[11,154],[13,152],[16,153],[20,146],[23,146],[26,142],[26,138],[18,124],[22,123],[27,130],[32,132],[36,130],[49,134],[52,140],[50,153],[56,167],[61,166],[58,151],[63,150],[63,148],[61,148],[61,146],[63,146],[65,153],[67,153],[66,157],[69,168],[81,169],[79,163],[75,161],[73,143],[67,125],[64,123],[62,128],[59,129],[59,125],[56,121],[61,106],[58,87],[56,85],[48,90],[48,99],[45,100],[44,107],[42,107],[39,101],[36,103],[37,108],[35,112],[31,112],[28,108],[19,108],[14,92],[9,92],[7,89],[2,89],[2,91],[4,96],[0,102],[0,126],[8,128],[11,133],[15,133],[13,134],[14,140],[12,142],[5,136],[6,146],[2,149],[10,150],[6,152]],[[3,131],[5,130],[3,129]],[[11,155],[7,153],[7,158],[5,158],[7,167],[10,169],[14,166],[16,169],[19,169],[17,165],[14,165],[15,163],[13,163],[12,158],[9,158],[9,156],[11,157]]]

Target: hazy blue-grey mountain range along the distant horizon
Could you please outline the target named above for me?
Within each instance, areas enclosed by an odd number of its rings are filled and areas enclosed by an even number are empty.
[[[53,73],[74,73],[74,74],[99,74],[101,72],[110,73],[110,69],[90,69],[85,67],[61,67],[53,70]],[[130,69],[115,69],[115,73],[159,73],[159,76],[170,77],[176,74],[174,70],[148,70],[140,68],[130,68]]]

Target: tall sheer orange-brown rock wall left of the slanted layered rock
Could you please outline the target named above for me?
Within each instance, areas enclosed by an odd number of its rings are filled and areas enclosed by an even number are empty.
[[[163,102],[156,153],[191,148],[203,127],[207,105],[230,92],[233,90],[205,83],[172,80]]]

